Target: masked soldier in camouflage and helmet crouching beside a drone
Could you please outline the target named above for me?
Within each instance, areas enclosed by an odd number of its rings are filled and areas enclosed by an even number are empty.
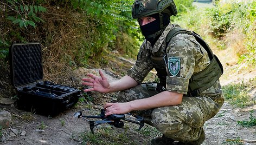
[[[223,70],[197,35],[177,34],[179,26],[170,23],[170,16],[176,14],[173,0],[135,1],[132,16],[138,19],[145,37],[136,64],[116,82],[109,83],[101,71],[100,77],[87,74],[82,81],[91,87],[85,92],[120,91],[117,102],[105,104],[105,115],[133,112],[143,116],[163,134],[152,139],[152,144],[201,144],[204,122],[216,115],[224,102],[219,82]],[[153,68],[159,81],[142,83]]]

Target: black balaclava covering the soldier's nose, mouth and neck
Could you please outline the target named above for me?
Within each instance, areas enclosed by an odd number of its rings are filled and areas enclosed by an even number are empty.
[[[145,25],[140,25],[140,30],[142,30],[142,34],[145,37],[145,39],[147,41],[150,42],[151,46],[153,47],[153,45],[155,45],[157,39],[161,36],[161,34],[156,35],[155,37],[149,37],[152,34],[155,34],[156,32],[160,31],[160,18],[159,18],[159,14],[153,14],[150,15],[149,17],[153,17],[155,18],[155,21],[150,22],[148,24]],[[170,16],[166,13],[163,13],[163,28],[165,29],[167,27],[167,25],[170,23]]]

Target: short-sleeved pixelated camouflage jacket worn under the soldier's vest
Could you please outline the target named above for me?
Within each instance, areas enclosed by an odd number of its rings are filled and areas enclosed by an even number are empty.
[[[166,55],[165,59],[168,60],[168,64],[171,64],[169,62],[174,60],[178,60],[179,63],[176,66],[167,64],[166,89],[176,93],[187,94],[190,77],[205,69],[210,60],[207,51],[196,41],[194,36],[188,34],[174,36],[167,47],[165,38],[174,27],[179,26],[169,24],[153,47],[151,47],[150,42],[146,40],[143,42],[140,46],[136,64],[127,72],[127,75],[138,83],[142,83],[149,71],[153,69],[154,65],[151,57],[163,57]],[[178,67],[178,69],[175,67]],[[172,73],[172,69],[178,71]],[[202,93],[214,94],[216,89],[215,87],[210,87]]]

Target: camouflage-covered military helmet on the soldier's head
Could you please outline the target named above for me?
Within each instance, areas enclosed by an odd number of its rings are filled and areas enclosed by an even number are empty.
[[[136,0],[132,5],[132,17],[141,18],[165,12],[169,16],[177,15],[177,8],[173,0]]]

